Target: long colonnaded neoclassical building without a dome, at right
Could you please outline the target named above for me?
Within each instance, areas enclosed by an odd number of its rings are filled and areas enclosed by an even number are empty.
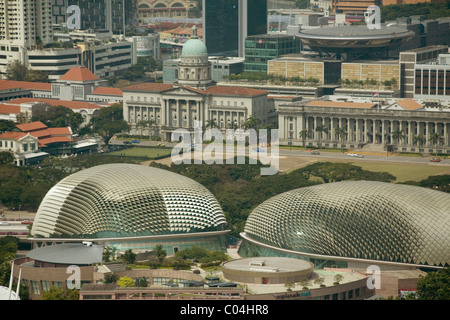
[[[280,144],[450,154],[450,109],[412,99],[299,101],[280,105],[278,121]]]

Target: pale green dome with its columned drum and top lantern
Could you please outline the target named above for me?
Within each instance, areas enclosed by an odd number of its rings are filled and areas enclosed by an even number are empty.
[[[192,27],[192,37],[183,45],[178,64],[178,84],[197,89],[213,85],[211,62],[205,43],[197,37],[197,27]]]

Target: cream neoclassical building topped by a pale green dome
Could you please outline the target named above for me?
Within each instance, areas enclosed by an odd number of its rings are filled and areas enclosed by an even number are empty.
[[[188,40],[178,65],[178,81],[174,84],[142,83],[123,88],[124,120],[131,133],[140,132],[139,123],[150,123],[152,131],[170,140],[174,130],[194,130],[194,122],[203,128],[237,129],[249,118],[267,123],[268,92],[264,90],[217,86],[212,80],[211,62],[203,41]]]

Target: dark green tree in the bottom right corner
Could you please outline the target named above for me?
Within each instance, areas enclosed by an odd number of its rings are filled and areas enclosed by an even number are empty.
[[[420,277],[417,291],[420,300],[450,300],[450,268]]]

